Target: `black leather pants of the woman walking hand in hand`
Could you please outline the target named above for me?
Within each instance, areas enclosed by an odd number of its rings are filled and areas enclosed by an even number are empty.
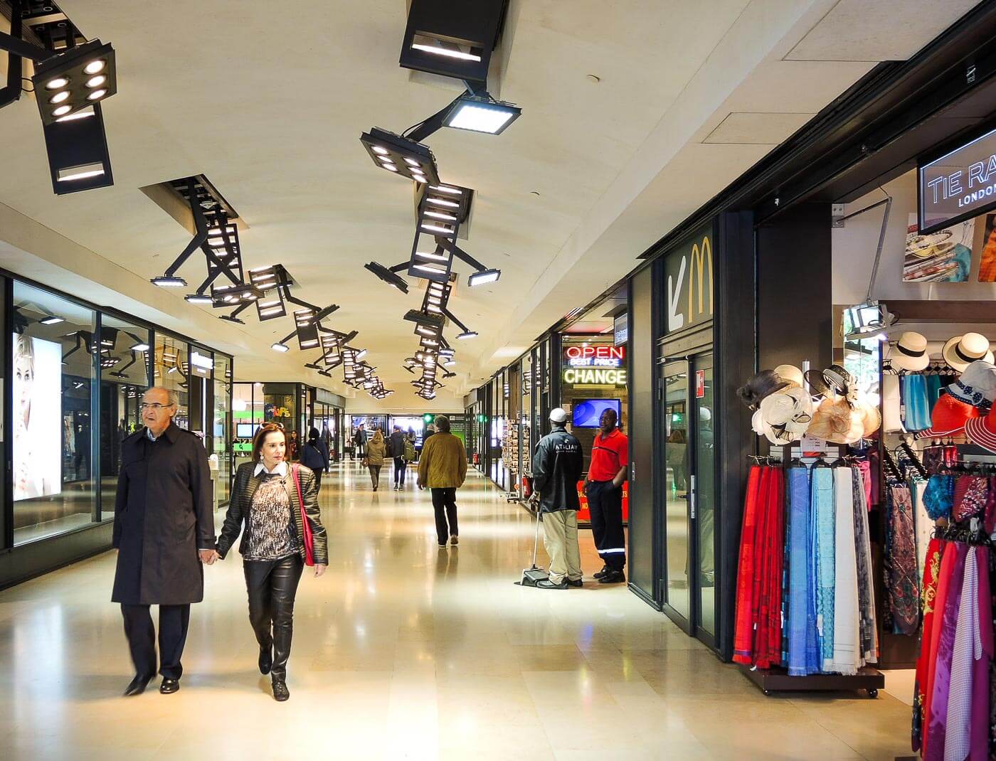
[[[294,635],[294,598],[304,570],[300,555],[283,560],[247,560],[242,564],[249,593],[249,623],[261,649],[273,647],[274,678],[287,678],[287,658]]]

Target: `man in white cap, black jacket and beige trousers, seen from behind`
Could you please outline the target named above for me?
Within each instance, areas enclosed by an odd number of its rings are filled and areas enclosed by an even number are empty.
[[[550,410],[552,430],[540,439],[533,455],[533,489],[539,494],[543,546],[550,556],[550,578],[536,586],[544,590],[581,587],[578,547],[578,481],[585,466],[581,442],[564,427],[567,412]]]

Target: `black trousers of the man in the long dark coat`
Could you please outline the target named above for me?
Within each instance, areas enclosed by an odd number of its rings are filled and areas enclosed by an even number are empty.
[[[147,605],[122,603],[124,635],[131,650],[134,672],[140,676],[155,673],[155,629]],[[183,673],[180,656],[190,625],[190,606],[159,606],[159,673],[166,679],[178,679]]]

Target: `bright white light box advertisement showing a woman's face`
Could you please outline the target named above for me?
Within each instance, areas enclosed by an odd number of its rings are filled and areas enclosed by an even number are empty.
[[[14,500],[62,491],[62,346],[14,334]]]

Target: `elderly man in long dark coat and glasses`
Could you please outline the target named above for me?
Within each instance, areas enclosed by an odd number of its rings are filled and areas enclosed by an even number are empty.
[[[180,655],[190,604],[204,598],[204,570],[217,559],[207,453],[200,439],[173,423],[176,397],[166,388],[142,396],[145,427],[122,443],[115,501],[118,570],[112,601],[121,603],[137,695],[155,675],[155,630],[148,607],[159,607],[159,691],[179,689]]]

